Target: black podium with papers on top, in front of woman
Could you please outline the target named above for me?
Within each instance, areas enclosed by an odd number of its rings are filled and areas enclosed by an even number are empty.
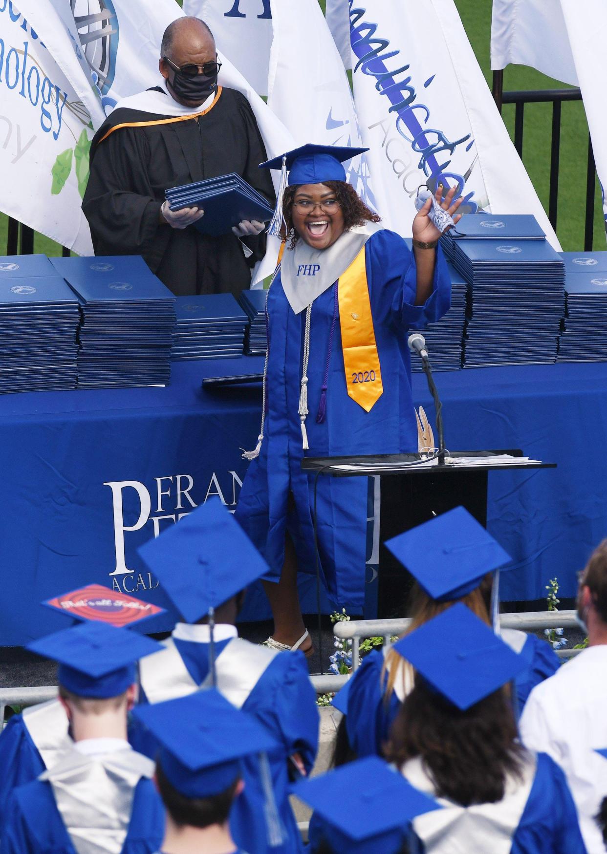
[[[512,459],[504,461],[505,456]],[[306,457],[301,468],[314,478],[315,486],[318,477],[382,478],[377,616],[402,617],[411,576],[404,573],[402,565],[383,543],[459,505],[485,527],[490,471],[556,468],[556,463],[521,458],[520,449],[457,451],[449,453],[447,459],[453,462],[447,465],[423,461],[412,453]],[[474,462],[466,463],[469,459]]]

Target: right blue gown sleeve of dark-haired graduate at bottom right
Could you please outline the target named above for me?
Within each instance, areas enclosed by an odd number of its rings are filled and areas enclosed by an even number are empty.
[[[537,755],[534,783],[511,854],[587,854],[565,775],[546,753]]]

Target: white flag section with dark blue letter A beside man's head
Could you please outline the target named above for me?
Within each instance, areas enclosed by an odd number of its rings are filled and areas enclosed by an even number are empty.
[[[204,20],[221,53],[258,95],[267,95],[270,0],[184,0],[184,13]]]

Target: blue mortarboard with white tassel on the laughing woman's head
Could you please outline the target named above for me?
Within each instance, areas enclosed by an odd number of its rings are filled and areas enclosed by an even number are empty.
[[[346,170],[342,163],[369,149],[357,149],[340,145],[316,145],[306,143],[298,149],[285,151],[283,155],[260,163],[260,169],[280,169],[277,202],[268,234],[280,236],[283,225],[283,196],[285,187],[295,184],[324,184],[325,181],[345,181]],[[287,178],[289,173],[289,178]]]

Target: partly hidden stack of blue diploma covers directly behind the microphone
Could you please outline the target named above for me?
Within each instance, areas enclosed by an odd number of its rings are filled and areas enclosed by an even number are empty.
[[[468,285],[452,264],[447,262],[447,268],[451,278],[451,308],[438,323],[429,324],[421,330],[433,371],[458,371],[462,366]],[[411,360],[411,371],[422,371],[421,360]]]

